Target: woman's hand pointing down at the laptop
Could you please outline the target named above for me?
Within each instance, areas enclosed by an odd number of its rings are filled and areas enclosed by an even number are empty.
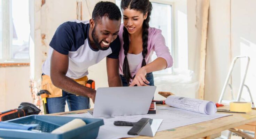
[[[134,86],[137,84],[137,86],[149,86],[149,81],[146,79],[147,71],[145,67],[141,67],[140,70],[136,73],[131,85]],[[147,83],[147,84],[146,84]]]

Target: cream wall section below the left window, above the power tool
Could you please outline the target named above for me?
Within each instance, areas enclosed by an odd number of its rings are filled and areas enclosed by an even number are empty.
[[[0,112],[18,108],[22,102],[32,103],[30,67],[0,67]]]

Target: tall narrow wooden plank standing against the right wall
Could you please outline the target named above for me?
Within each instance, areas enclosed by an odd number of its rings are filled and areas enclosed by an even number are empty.
[[[205,78],[205,59],[206,59],[206,43],[207,43],[207,27],[209,14],[209,0],[203,1],[203,25],[200,52],[200,75],[199,75],[199,99],[204,99],[204,78]]]

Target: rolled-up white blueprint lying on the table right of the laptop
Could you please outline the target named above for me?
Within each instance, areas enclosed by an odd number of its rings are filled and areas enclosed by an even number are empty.
[[[165,103],[169,106],[185,109],[202,114],[214,114],[217,111],[215,103],[207,100],[185,98],[171,95],[166,98]]]

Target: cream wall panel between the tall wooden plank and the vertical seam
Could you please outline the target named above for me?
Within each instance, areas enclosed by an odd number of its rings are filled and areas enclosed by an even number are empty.
[[[205,65],[206,100],[219,99],[229,68],[230,0],[210,0]]]

